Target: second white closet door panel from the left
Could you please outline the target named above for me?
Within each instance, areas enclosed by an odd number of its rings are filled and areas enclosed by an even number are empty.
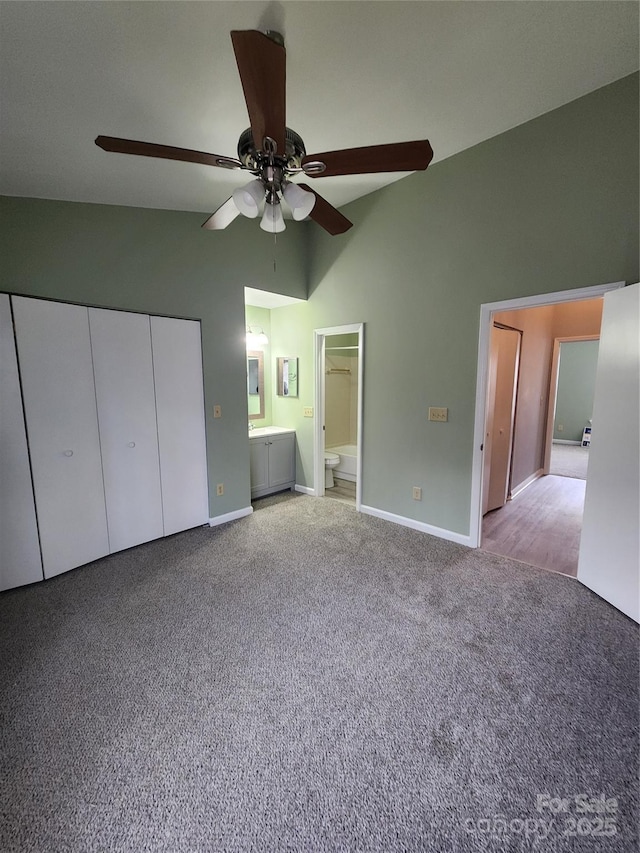
[[[86,308],[12,297],[45,577],[109,553]]]

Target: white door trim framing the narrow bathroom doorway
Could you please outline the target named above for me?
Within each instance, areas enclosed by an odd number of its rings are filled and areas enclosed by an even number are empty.
[[[324,348],[328,335],[358,335],[358,417],[356,455],[356,510],[362,505],[362,422],[363,422],[363,379],[364,379],[364,323],[349,323],[344,326],[329,326],[313,331],[314,363],[314,414],[313,431],[313,494],[324,497]]]

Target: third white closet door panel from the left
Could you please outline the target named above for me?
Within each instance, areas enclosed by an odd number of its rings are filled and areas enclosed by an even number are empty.
[[[89,309],[111,551],[163,534],[147,314]]]

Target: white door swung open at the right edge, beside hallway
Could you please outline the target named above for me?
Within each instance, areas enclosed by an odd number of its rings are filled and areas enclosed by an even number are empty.
[[[640,621],[640,285],[604,297],[578,580]]]

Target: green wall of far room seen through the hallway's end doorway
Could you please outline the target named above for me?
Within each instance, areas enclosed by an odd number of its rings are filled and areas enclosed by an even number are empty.
[[[582,441],[582,431],[593,414],[599,344],[599,341],[560,344],[554,439]],[[564,429],[558,429],[560,424]]]

